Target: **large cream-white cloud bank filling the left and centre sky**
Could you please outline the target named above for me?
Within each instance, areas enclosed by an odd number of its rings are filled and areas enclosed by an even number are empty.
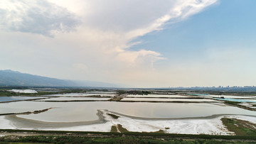
[[[161,53],[145,48],[130,50],[132,45],[140,43],[136,39],[162,30],[166,22],[174,23],[188,18],[216,1],[3,0],[0,2],[0,16],[5,22],[0,22],[1,31],[7,33],[6,30],[12,30],[9,32],[9,39],[21,39],[28,43],[21,45],[19,42],[5,41],[1,48],[6,46],[11,49],[0,54],[3,56],[1,60],[11,59],[10,53],[17,49],[35,49],[36,52],[28,54],[29,60],[24,60],[24,55],[21,57],[21,60],[31,65],[26,68],[26,72],[30,70],[29,72],[51,77],[117,83],[125,83],[127,78],[133,77],[133,82],[136,79],[147,82],[152,79],[151,74],[157,75],[154,62],[165,58]],[[55,37],[48,38],[38,34]],[[0,38],[4,40],[7,37],[0,35]],[[134,41],[135,43],[131,43]],[[41,51],[46,51],[49,57],[38,57]],[[9,56],[5,58],[4,55]],[[43,60],[44,58],[47,60]],[[34,63],[41,67],[33,67]],[[47,67],[51,67],[55,74],[46,72]],[[86,76],[75,70],[85,71]],[[156,81],[157,77],[151,82]]]

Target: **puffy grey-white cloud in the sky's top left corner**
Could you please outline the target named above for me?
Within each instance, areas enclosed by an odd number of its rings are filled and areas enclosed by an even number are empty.
[[[73,13],[46,0],[2,0],[0,18],[0,25],[7,30],[47,36],[73,31],[80,23]]]

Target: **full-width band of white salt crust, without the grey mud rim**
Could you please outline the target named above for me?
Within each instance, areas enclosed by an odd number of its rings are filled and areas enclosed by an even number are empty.
[[[82,126],[72,126],[63,128],[41,128],[41,130],[47,131],[101,131],[109,132],[112,126],[122,125],[128,131],[134,132],[154,132],[164,131],[164,133],[181,133],[181,134],[207,134],[207,135],[234,135],[233,132],[228,131],[223,126],[221,118],[238,118],[251,123],[256,123],[256,117],[254,116],[218,116],[215,118],[186,118],[186,119],[137,119],[130,118],[129,116],[120,116],[117,113],[111,111],[101,110],[105,117],[106,123],[95,123]],[[115,119],[107,113],[112,113],[119,116]],[[0,116],[0,128],[12,128],[16,129],[16,126],[12,126],[11,121],[8,121],[4,116]],[[20,129],[20,128],[19,128]],[[21,128],[23,129],[23,128]],[[35,128],[28,128],[35,129]]]

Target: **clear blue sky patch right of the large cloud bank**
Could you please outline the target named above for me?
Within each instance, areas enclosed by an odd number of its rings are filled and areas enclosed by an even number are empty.
[[[141,48],[161,52],[169,60],[203,58],[208,49],[256,48],[256,1],[218,1],[201,13],[178,23],[166,23],[163,31],[136,40]]]

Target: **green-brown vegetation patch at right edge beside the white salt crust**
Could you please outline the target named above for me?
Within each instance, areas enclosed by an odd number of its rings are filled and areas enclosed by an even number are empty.
[[[248,135],[256,137],[256,124],[249,121],[242,121],[235,118],[221,118],[223,124],[235,135]]]

